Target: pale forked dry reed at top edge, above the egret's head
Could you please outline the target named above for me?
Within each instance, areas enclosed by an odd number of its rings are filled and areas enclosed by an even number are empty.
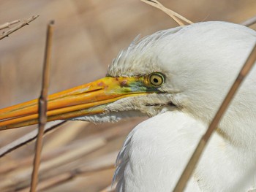
[[[185,24],[181,21],[185,21],[186,23],[192,24],[193,22],[188,20],[187,18],[184,18],[183,16],[179,15],[177,12],[174,12],[171,9],[167,9],[165,6],[159,3],[157,0],[140,0],[143,1],[146,4],[150,4],[153,7],[156,7],[157,9],[162,10],[167,15],[170,16],[176,23],[178,23],[179,26],[185,26]]]

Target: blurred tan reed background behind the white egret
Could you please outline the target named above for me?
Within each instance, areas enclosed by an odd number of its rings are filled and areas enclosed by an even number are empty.
[[[160,2],[193,22],[241,23],[256,15],[255,0]],[[40,15],[0,42],[0,108],[39,96],[49,20],[56,22],[50,93],[104,77],[113,58],[138,34],[143,37],[177,26],[164,12],[139,0],[0,0],[0,4],[0,25]],[[69,122],[47,134],[39,191],[104,191],[111,184],[118,150],[142,120]],[[1,131],[0,148],[36,127]],[[33,156],[31,142],[0,158],[0,191],[29,191]]]

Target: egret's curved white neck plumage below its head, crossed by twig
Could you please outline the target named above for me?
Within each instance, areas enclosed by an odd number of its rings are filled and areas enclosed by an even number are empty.
[[[118,155],[116,190],[172,191],[205,131],[203,123],[182,112],[140,123]],[[249,154],[214,133],[186,191],[249,191],[255,188],[253,167]]]

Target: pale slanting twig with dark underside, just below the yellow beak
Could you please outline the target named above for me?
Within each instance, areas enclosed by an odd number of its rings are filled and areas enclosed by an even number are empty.
[[[48,133],[49,131],[59,128],[61,125],[66,123],[67,121],[63,121],[61,123],[57,123],[53,126],[48,126],[45,128],[44,134]],[[4,147],[0,148],[0,158],[4,155],[7,155],[8,153],[12,152],[12,150],[16,150],[24,145],[28,145],[30,142],[33,142],[37,138],[37,132],[38,130],[34,130],[29,132],[29,134],[24,135],[23,137],[18,138],[14,142],[11,142],[8,145],[5,145]]]

